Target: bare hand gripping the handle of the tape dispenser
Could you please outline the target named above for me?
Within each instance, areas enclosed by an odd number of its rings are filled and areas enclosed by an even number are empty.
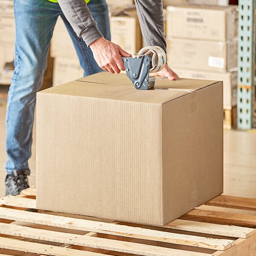
[[[131,57],[131,54],[125,52],[119,45],[103,37],[95,40],[89,47],[99,67],[112,74],[119,74],[121,70],[125,70],[125,64],[121,56]]]

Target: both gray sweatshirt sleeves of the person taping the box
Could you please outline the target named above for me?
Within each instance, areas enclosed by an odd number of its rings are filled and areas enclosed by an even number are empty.
[[[84,0],[58,0],[58,3],[76,35],[87,46],[103,36]],[[135,4],[145,44],[158,45],[166,51],[162,0],[135,0]]]

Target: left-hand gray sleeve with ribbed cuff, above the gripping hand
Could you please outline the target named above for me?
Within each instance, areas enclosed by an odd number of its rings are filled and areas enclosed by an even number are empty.
[[[58,3],[76,35],[83,38],[87,46],[103,36],[84,0],[58,0]]]

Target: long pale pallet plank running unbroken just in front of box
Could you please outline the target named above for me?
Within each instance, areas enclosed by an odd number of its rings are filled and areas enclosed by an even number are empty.
[[[209,249],[222,248],[218,250],[226,250],[231,246],[233,242],[233,240],[229,239],[211,239],[201,236],[169,233],[140,227],[128,227],[125,225],[111,224],[99,221],[88,221],[84,219],[55,216],[38,212],[27,212],[1,207],[0,218],[12,219],[16,221],[25,221],[47,226],[63,227],[74,230],[84,230],[116,236],[126,236],[137,239],[169,242],[194,247]]]

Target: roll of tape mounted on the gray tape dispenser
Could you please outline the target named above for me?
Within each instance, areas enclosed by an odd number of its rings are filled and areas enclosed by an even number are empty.
[[[166,53],[157,45],[143,47],[138,52],[137,58],[140,58],[143,55],[148,55],[150,58],[151,63],[149,73],[162,70],[166,64]]]

